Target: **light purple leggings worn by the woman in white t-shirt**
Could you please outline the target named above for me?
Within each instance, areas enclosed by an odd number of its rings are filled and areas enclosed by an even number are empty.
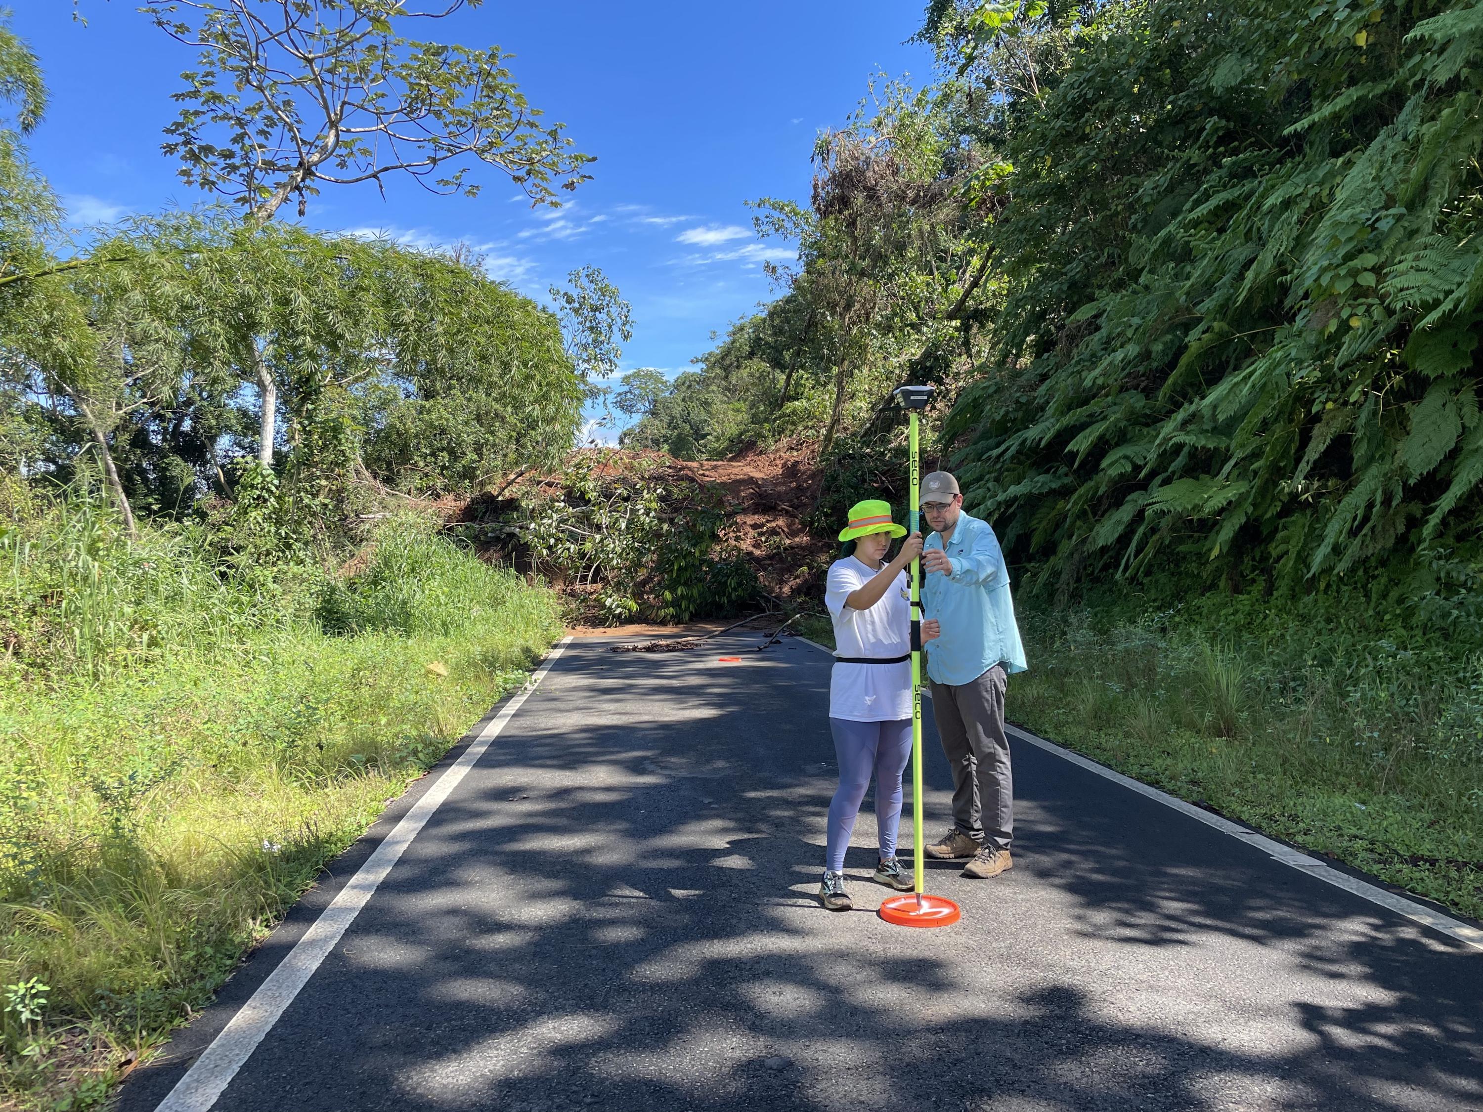
[[[875,774],[875,827],[881,835],[881,857],[896,855],[896,827],[902,821],[902,771],[912,755],[912,721],[851,722],[830,718],[839,761],[839,787],[829,804],[829,851],[825,867],[844,872],[854,817]]]

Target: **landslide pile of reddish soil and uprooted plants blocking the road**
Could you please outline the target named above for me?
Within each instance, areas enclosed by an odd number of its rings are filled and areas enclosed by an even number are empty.
[[[469,500],[452,528],[543,575],[584,623],[681,623],[816,599],[833,549],[810,531],[819,495],[808,448],[704,461],[595,448]]]

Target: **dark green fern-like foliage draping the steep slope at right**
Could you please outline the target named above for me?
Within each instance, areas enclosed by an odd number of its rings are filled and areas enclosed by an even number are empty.
[[[1008,128],[1007,299],[949,423],[1007,541],[1296,584],[1476,532],[1480,27],[1342,0],[1081,33]]]

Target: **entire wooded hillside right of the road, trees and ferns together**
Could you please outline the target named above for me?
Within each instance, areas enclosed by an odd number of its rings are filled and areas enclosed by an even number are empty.
[[[759,216],[799,237],[787,297],[630,439],[873,439],[925,380],[1038,583],[1427,590],[1476,560],[1480,28],[1436,1],[939,0],[939,83],[820,139],[811,208]]]

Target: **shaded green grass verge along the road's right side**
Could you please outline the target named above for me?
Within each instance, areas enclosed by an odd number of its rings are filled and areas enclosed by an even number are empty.
[[[1302,615],[1219,596],[1169,612],[1020,600],[1031,667],[1008,716],[1483,918],[1483,654],[1378,624],[1342,599]],[[833,646],[826,618],[799,632]]]

